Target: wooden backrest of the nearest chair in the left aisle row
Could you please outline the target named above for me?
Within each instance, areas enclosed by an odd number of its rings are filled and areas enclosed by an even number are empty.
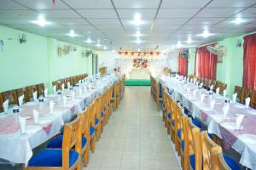
[[[72,122],[68,122],[64,127],[62,142],[62,167],[69,169],[69,150],[75,146],[75,150],[80,152],[82,146],[82,118],[77,116]]]

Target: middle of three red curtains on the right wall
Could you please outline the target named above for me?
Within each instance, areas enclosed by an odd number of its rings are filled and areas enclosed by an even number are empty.
[[[216,79],[217,55],[210,53],[207,46],[197,48],[195,54],[195,75]]]

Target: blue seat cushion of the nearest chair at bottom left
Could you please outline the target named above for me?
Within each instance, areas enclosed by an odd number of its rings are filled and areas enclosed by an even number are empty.
[[[78,158],[78,152],[69,150],[69,167],[72,167]],[[28,161],[27,167],[62,167],[62,150],[40,150]]]

